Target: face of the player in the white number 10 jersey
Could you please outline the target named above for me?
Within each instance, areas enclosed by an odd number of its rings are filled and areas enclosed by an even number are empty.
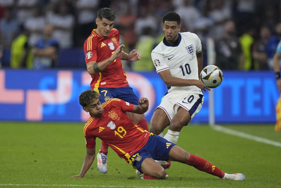
[[[173,44],[179,37],[178,32],[181,29],[181,25],[178,25],[176,21],[165,21],[162,24],[165,39],[169,44]]]

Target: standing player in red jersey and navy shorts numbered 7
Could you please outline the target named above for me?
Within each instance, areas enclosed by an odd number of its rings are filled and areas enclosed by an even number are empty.
[[[132,50],[129,54],[123,51],[124,45],[119,45],[119,31],[113,28],[116,15],[109,8],[97,11],[97,29],[85,40],[84,52],[87,70],[92,76],[91,89],[100,94],[100,101],[119,98],[138,105],[138,97],[129,86],[123,70],[121,59],[129,61],[140,60],[140,53]],[[148,130],[144,114],[127,113],[140,127]],[[107,172],[108,145],[102,142],[97,155],[98,169]]]

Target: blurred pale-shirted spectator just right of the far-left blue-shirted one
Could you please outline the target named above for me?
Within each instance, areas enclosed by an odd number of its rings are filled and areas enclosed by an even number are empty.
[[[42,16],[42,8],[39,6],[32,9],[32,16],[27,18],[24,27],[29,30],[28,44],[34,47],[36,42],[42,38],[45,27],[45,18]]]

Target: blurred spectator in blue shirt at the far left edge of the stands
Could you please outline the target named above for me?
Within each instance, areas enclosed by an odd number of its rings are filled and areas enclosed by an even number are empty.
[[[12,8],[6,8],[4,18],[0,21],[0,44],[4,49],[11,47],[11,42],[19,32],[18,21],[13,18]]]

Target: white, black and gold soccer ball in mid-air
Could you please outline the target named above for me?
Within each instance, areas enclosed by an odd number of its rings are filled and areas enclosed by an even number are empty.
[[[215,65],[206,66],[200,73],[201,82],[208,88],[216,88],[222,83],[222,70]]]

